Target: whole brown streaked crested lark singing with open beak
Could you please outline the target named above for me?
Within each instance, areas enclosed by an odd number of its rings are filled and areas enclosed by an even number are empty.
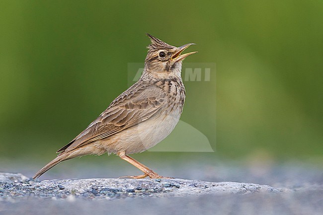
[[[147,33],[145,67],[139,80],[115,98],[97,119],[70,143],[60,148],[58,156],[40,169],[38,178],[58,163],[88,154],[116,154],[143,174],[123,176],[132,179],[165,178],[130,157],[165,139],[175,128],[183,111],[185,88],[181,78],[183,60],[197,52],[182,52],[195,45],[168,45]]]

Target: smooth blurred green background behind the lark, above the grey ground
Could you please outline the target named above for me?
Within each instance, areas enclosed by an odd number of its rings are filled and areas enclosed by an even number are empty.
[[[1,0],[0,156],[54,158],[128,87],[146,32],[216,63],[185,82],[181,120],[215,150],[194,156],[322,163],[320,0]]]

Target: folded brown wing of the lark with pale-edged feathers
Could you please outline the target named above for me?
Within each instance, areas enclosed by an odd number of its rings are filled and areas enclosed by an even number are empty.
[[[152,117],[165,104],[165,92],[156,86],[129,88],[119,95],[81,134],[57,152],[67,152],[117,134]]]

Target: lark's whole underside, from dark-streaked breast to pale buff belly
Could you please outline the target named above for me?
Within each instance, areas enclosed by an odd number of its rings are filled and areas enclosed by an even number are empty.
[[[161,79],[154,85],[162,89],[165,102],[149,119],[127,128],[104,140],[101,145],[108,153],[126,154],[145,151],[165,139],[179,121],[185,101],[185,88],[181,79]]]

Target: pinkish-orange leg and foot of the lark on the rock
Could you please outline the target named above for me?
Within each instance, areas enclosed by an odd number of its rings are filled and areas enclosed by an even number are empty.
[[[134,165],[135,167],[137,167],[138,169],[140,169],[141,171],[143,171],[145,174],[143,175],[137,175],[137,176],[123,176],[120,178],[134,178],[134,179],[138,179],[138,178],[146,178],[147,176],[149,176],[150,178],[164,178],[163,176],[160,176],[159,174],[157,174],[156,172],[154,172],[153,170],[151,170],[150,168],[148,168],[147,166],[145,166],[144,164],[138,162],[137,160],[135,160],[134,158],[126,155],[126,153],[120,152],[118,153],[118,156],[131,163],[132,165]]]

